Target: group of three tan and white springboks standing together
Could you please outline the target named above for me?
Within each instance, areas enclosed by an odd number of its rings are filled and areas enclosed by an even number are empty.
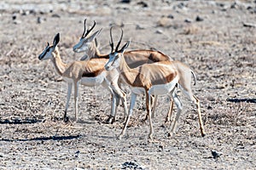
[[[75,120],[78,121],[79,115],[79,84],[96,87],[102,85],[107,88],[112,95],[111,113],[107,122],[115,122],[115,115],[119,100],[121,99],[124,106],[124,120],[125,125],[122,132],[119,134],[119,139],[125,134],[126,127],[132,115],[132,110],[136,103],[138,94],[146,95],[146,108],[150,132],[149,139],[153,140],[153,125],[152,118],[154,117],[155,106],[158,95],[170,95],[171,105],[166,115],[166,122],[170,122],[172,116],[173,103],[177,106],[177,114],[172,122],[171,135],[175,133],[179,116],[183,110],[183,104],[178,98],[176,91],[180,89],[197,107],[199,125],[201,135],[205,136],[203,122],[201,119],[200,100],[192,94],[191,90],[191,75],[194,77],[195,73],[188,65],[179,61],[174,61],[166,54],[154,50],[132,50],[125,52],[130,41],[119,49],[122,42],[123,30],[121,29],[121,36],[116,47],[113,47],[112,30],[110,28],[110,42],[111,51],[109,54],[100,54],[97,47],[96,37],[100,34],[102,29],[91,33],[96,26],[94,21],[90,29],[86,29],[86,20],[84,20],[84,32],[79,42],[73,46],[73,52],[84,53],[80,60],[72,63],[64,63],[61,60],[61,55],[57,47],[60,42],[60,34],[57,33],[54,37],[53,43],[49,42],[44,48],[42,54],[39,54],[38,59],[50,59],[53,63],[56,72],[67,82],[67,101],[63,119],[68,122],[67,110],[69,100],[74,87],[74,106],[75,106]],[[131,89],[131,103],[129,111],[127,109],[126,94],[122,90],[122,84],[126,84]]]

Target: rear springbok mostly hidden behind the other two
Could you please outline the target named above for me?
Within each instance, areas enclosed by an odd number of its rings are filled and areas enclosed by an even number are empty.
[[[84,32],[82,34],[82,37],[80,38],[79,42],[73,46],[73,51],[75,53],[85,52],[81,60],[94,59],[94,58],[106,58],[106,59],[109,58],[108,54],[100,54],[100,51],[97,48],[97,44],[96,44],[96,36],[99,35],[102,29],[94,32],[90,36],[90,31],[92,31],[95,26],[96,26],[96,22],[94,21],[94,24],[90,28],[90,30],[86,31],[86,19],[85,19]],[[110,34],[111,34],[111,31],[110,31]],[[111,43],[113,44],[112,35],[110,37],[111,37]],[[119,46],[119,43],[118,43],[118,46]],[[154,62],[159,62],[164,60],[172,60],[169,56],[167,56],[166,54],[162,54],[159,51],[145,50],[145,49],[132,50],[132,51],[125,52],[124,57],[125,57],[125,61],[131,68],[136,68],[137,66],[148,64],[148,63],[154,63]],[[114,105],[114,108],[113,108],[114,112],[112,112],[113,115],[109,116],[108,122],[113,123],[115,120],[116,107],[117,105],[119,105],[119,97],[117,96],[117,98],[118,98],[117,102],[115,102],[116,105]],[[153,111],[152,111],[153,116],[154,116],[156,102],[157,102],[157,95],[154,98],[154,105],[153,105]],[[170,110],[168,111],[168,114],[166,116],[166,122],[170,122],[170,117],[172,116],[172,108],[173,108],[173,101],[171,102]]]

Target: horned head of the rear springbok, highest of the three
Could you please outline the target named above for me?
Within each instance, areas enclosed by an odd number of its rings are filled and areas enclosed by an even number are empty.
[[[84,32],[83,32],[82,37],[80,38],[79,42],[73,46],[73,52],[75,52],[75,53],[85,52],[87,54],[88,49],[91,48],[93,45],[96,45],[93,41],[95,40],[96,36],[100,34],[102,29],[100,29],[100,30],[94,32],[92,35],[90,35],[90,32],[93,30],[93,28],[95,26],[96,26],[96,22],[94,21],[93,26],[91,26],[90,29],[86,30],[86,19],[84,20]],[[84,55],[84,57],[85,57],[85,55]],[[88,56],[86,58],[88,58]]]

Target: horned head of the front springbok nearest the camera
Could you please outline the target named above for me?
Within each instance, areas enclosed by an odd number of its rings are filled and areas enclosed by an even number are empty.
[[[105,69],[106,71],[111,71],[114,68],[118,68],[120,65],[120,58],[123,57],[123,54],[125,52],[125,49],[128,48],[130,41],[126,42],[125,45],[119,49],[119,45],[122,41],[123,38],[123,29],[121,28],[121,37],[119,39],[119,42],[116,46],[116,48],[113,50],[113,37],[112,37],[112,28],[110,28],[110,42],[109,45],[111,47],[111,52],[109,54],[109,59],[108,59],[108,63],[105,65]]]

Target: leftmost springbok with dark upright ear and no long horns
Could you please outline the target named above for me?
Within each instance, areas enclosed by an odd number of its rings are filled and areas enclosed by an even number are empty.
[[[45,60],[50,59],[55,67],[57,73],[63,77],[63,79],[67,82],[67,101],[64,112],[64,121],[68,121],[67,117],[67,109],[68,103],[70,100],[72,88],[74,86],[74,105],[75,105],[75,122],[78,121],[78,97],[79,97],[79,84],[95,87],[102,85],[102,87],[107,88],[108,91],[113,96],[119,95],[123,100],[123,103],[126,106],[125,95],[118,87],[118,72],[117,71],[105,71],[104,65],[107,63],[108,59],[99,58],[99,59],[90,59],[86,61],[74,61],[69,64],[65,64],[61,60],[60,52],[57,47],[57,44],[60,42],[60,34],[57,33],[55,35],[54,41],[52,45],[49,45],[49,42],[44,48],[42,54],[38,56],[38,59]],[[108,77],[108,78],[107,78]],[[110,78],[109,78],[110,77]],[[108,79],[111,79],[112,82],[108,82]],[[118,89],[116,94],[113,91],[114,89]],[[127,111],[125,111],[125,115],[127,115]]]

